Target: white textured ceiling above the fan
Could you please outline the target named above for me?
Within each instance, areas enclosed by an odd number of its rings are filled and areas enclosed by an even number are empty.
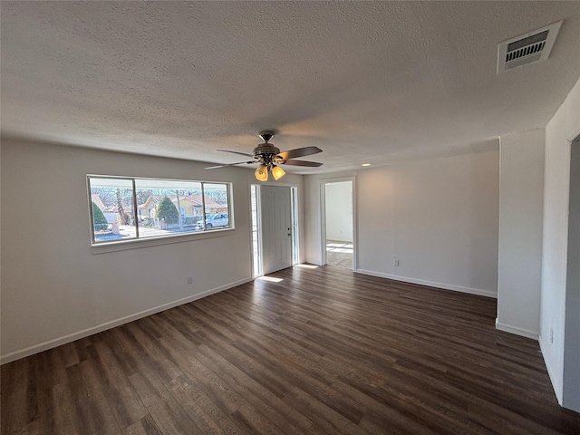
[[[7,2],[5,136],[231,163],[275,129],[313,173],[486,149],[580,76],[580,2]],[[550,58],[498,43],[564,20]],[[243,160],[243,158],[242,158]],[[218,169],[219,170],[219,169]]]

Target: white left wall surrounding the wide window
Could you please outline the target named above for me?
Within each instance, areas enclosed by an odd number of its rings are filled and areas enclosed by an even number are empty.
[[[4,139],[3,362],[251,279],[253,171],[203,166]],[[232,182],[236,229],[219,237],[92,254],[87,174]],[[300,189],[303,177],[288,174],[284,181]]]

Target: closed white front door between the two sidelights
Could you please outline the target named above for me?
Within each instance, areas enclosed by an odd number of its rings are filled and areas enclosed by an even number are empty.
[[[263,273],[292,266],[290,188],[261,186]]]

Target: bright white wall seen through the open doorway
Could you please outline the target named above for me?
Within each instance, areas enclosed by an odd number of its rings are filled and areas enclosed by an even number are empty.
[[[325,185],[326,239],[353,241],[353,183],[341,181]]]

